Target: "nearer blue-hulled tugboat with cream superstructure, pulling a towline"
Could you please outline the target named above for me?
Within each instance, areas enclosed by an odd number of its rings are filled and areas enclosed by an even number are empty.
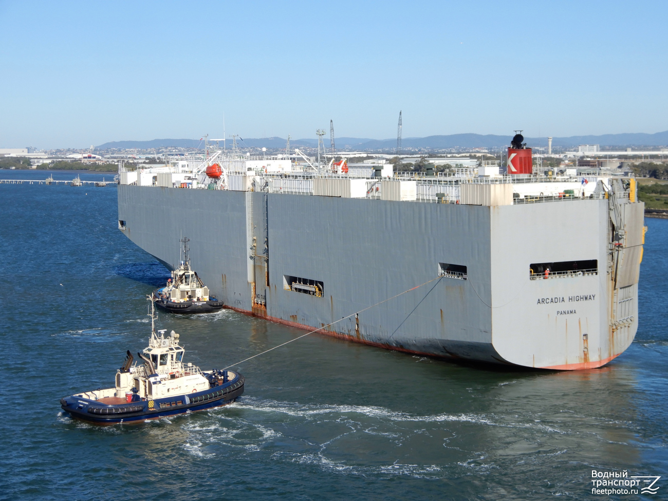
[[[152,298],[149,298],[150,300]],[[116,371],[116,386],[75,393],[60,400],[73,418],[96,424],[126,424],[211,409],[232,403],[244,392],[244,377],[233,371],[202,371],[184,363],[179,335],[154,329],[154,301],[151,301],[151,337],[148,347],[130,350]]]

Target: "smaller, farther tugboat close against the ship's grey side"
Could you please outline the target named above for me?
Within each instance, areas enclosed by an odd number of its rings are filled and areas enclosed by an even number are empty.
[[[213,313],[220,310],[222,301],[209,295],[208,287],[190,268],[190,239],[182,238],[180,242],[183,244],[183,259],[178,268],[172,271],[172,278],[168,279],[167,285],[154,291],[156,306],[170,313]]]

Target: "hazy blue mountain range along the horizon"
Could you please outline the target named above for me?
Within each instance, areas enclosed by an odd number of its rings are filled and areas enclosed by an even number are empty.
[[[403,138],[402,148],[424,148],[427,150],[444,150],[447,148],[503,148],[510,145],[512,136],[495,136],[493,134],[450,134],[449,136],[428,136],[426,138]],[[547,146],[547,138],[525,138],[526,146]],[[239,138],[241,148],[268,148],[278,150],[285,148],[283,138]],[[291,146],[318,145],[317,139],[295,139],[290,141]],[[603,134],[602,136],[570,136],[567,138],[552,138],[552,146],[570,148],[578,144],[600,144],[601,146],[666,146],[668,145],[668,131],[656,134]],[[227,141],[228,147],[231,141]],[[192,148],[202,149],[204,142],[195,139],[154,139],[151,141],[113,141],[97,146],[97,150],[118,148],[121,150],[150,150],[153,148]],[[329,148],[329,139],[325,140]],[[397,147],[396,139],[369,139],[369,138],[335,138],[337,150],[394,150]]]

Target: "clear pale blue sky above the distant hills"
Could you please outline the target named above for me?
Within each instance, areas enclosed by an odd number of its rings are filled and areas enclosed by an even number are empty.
[[[0,148],[668,130],[668,3],[0,0]]]

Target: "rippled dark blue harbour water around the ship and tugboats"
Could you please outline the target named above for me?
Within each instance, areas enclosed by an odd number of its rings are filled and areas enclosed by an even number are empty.
[[[240,365],[232,405],[100,427],[59,399],[113,385],[168,272],[118,231],[115,186],[3,184],[0,200],[0,498],[589,500],[592,470],[661,475],[653,497],[668,493],[668,220],[645,220],[639,331],[601,369],[457,365],[311,335]],[[159,327],[204,368],[304,333],[228,310]]]

